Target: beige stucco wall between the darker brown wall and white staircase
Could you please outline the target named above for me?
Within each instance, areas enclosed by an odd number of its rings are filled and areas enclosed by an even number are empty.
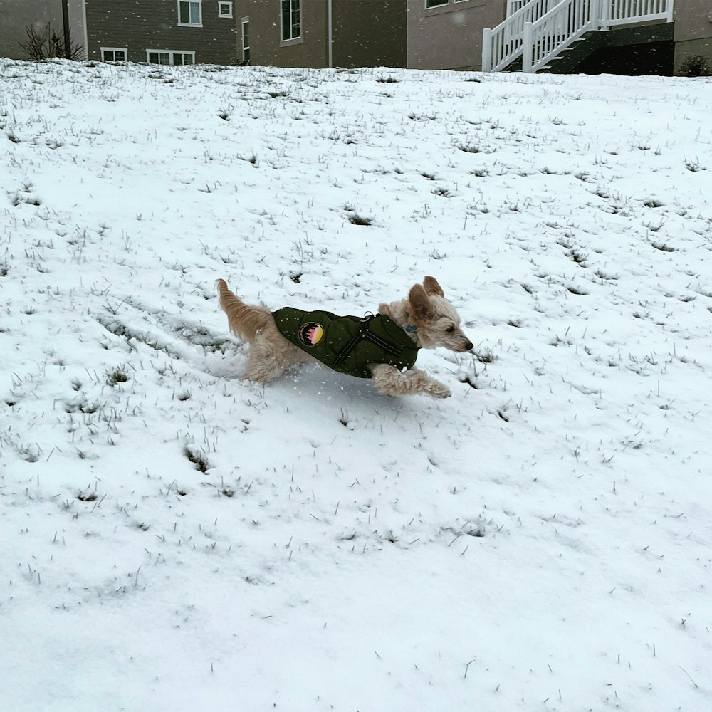
[[[412,69],[480,69],[482,30],[506,14],[506,0],[449,0],[434,9],[408,0],[407,66]]]

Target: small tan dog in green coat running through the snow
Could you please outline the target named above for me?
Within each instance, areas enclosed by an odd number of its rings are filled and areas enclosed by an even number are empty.
[[[381,304],[377,315],[363,318],[293,308],[271,312],[242,302],[223,279],[216,286],[231,332],[250,345],[244,375],[258,383],[292,364],[316,359],[336,371],[371,378],[385,394],[447,398],[451,391],[446,385],[414,368],[418,350],[472,348],[434,277],[414,285],[407,299]]]

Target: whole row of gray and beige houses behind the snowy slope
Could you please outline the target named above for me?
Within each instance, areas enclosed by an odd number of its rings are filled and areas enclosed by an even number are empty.
[[[712,67],[710,0],[0,0],[0,11],[0,55],[15,58],[29,26],[50,25],[102,61],[664,75],[701,56]]]

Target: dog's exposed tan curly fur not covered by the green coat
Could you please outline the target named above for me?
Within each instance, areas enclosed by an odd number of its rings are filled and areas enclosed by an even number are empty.
[[[292,364],[313,361],[310,355],[279,333],[267,307],[244,303],[231,292],[224,279],[217,280],[216,286],[231,332],[250,345],[244,377],[266,383]],[[446,300],[434,277],[426,277],[422,285],[414,285],[406,299],[379,305],[378,311],[389,316],[404,330],[415,327],[408,333],[421,348],[442,346],[456,352],[472,348],[472,342],[460,328],[456,309]],[[451,395],[446,385],[417,368],[401,372],[380,363],[371,364],[370,370],[375,387],[382,393],[394,396],[424,393],[433,398]]]

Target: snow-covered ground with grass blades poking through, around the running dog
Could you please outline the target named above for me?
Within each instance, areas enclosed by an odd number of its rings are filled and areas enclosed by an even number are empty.
[[[0,709],[712,708],[711,87],[0,61]],[[427,274],[444,401],[214,294]]]

